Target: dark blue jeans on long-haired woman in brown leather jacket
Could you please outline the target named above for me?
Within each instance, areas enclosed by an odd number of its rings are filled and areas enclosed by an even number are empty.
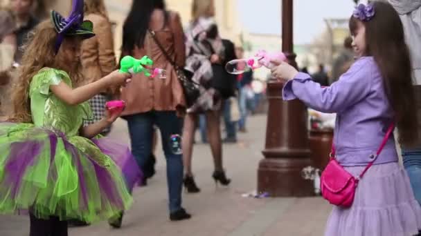
[[[141,170],[145,167],[152,149],[154,124],[161,130],[163,152],[167,160],[168,195],[170,213],[181,208],[183,184],[183,155],[172,153],[170,136],[181,135],[181,119],[174,111],[150,111],[125,117],[129,126],[132,154]]]

